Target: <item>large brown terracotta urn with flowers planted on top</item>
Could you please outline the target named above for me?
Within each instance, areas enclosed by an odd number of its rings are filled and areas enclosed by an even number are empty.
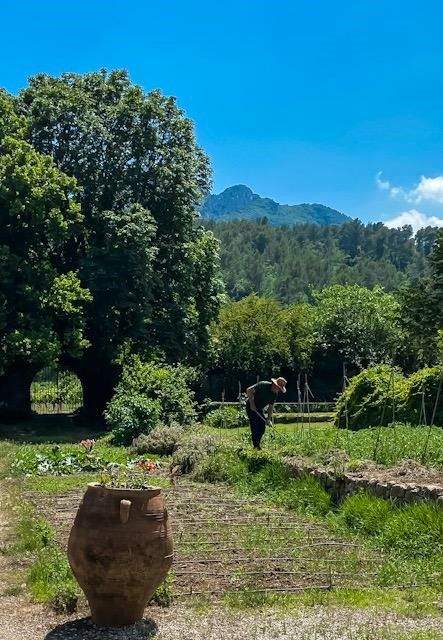
[[[134,624],[172,564],[161,489],[90,484],[68,542],[72,571],[99,626]]]

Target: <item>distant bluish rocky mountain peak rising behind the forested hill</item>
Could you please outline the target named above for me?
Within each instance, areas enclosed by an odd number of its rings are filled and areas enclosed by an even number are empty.
[[[342,224],[350,220],[349,216],[323,204],[279,204],[270,198],[260,197],[243,184],[229,187],[218,195],[208,196],[200,213],[203,218],[214,220],[267,218],[271,225]]]

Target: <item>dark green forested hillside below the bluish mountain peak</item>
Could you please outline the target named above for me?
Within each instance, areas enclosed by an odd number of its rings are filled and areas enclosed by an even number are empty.
[[[331,284],[381,284],[392,291],[421,276],[437,228],[389,229],[381,222],[351,220],[340,226],[271,226],[267,220],[207,221],[221,244],[227,294],[250,293],[282,302],[308,300],[312,289]]]

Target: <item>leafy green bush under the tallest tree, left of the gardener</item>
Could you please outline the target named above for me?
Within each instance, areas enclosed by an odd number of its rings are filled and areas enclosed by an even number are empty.
[[[141,433],[159,425],[191,424],[195,419],[194,394],[188,384],[191,369],[133,356],[124,366],[121,380],[105,417],[115,442],[129,444]]]

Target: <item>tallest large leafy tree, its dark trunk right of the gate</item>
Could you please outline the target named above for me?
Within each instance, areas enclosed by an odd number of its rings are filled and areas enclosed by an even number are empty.
[[[217,312],[217,244],[198,228],[209,165],[174,98],[144,93],[122,71],[38,75],[20,95],[29,141],[76,178],[82,234],[73,269],[94,303],[90,346],[68,365],[90,411],[112,394],[128,343],[169,361],[204,361]]]

